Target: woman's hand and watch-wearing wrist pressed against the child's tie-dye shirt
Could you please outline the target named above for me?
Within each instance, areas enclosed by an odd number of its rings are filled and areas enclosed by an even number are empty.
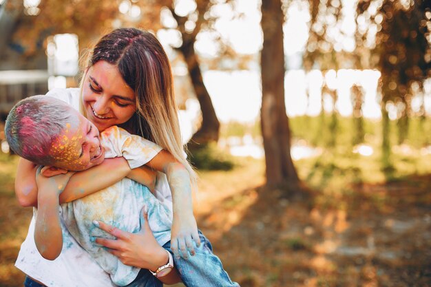
[[[118,257],[123,264],[149,269],[154,272],[160,266],[168,262],[169,257],[166,253],[166,249],[158,245],[156,238],[151,232],[151,228],[148,224],[148,214],[145,208],[143,208],[140,215],[140,226],[142,227],[138,233],[122,231],[100,221],[95,221],[94,225],[116,237],[115,240],[96,238],[96,243],[109,248],[109,253]],[[181,281],[175,266],[171,272],[158,279],[164,284],[169,285]]]

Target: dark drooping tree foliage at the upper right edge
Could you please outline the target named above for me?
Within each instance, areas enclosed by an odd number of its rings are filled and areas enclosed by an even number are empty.
[[[396,105],[399,109],[399,140],[402,142],[408,128],[413,87],[419,87],[422,92],[423,82],[431,76],[431,47],[427,39],[431,3],[425,0],[360,0],[357,13],[358,19],[361,17],[367,24],[366,28],[358,25],[358,49],[369,49],[370,66],[381,72],[382,162],[383,169],[391,169],[387,107]],[[370,33],[370,29],[377,33]],[[372,41],[374,36],[375,41]]]

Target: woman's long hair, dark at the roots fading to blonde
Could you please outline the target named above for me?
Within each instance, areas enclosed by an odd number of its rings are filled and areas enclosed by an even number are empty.
[[[171,65],[156,37],[136,28],[116,29],[95,45],[87,70],[98,61],[116,65],[136,94],[136,113],[119,126],[169,151],[189,171],[191,181],[196,182],[196,172],[182,145]],[[84,80],[85,75],[81,94]]]

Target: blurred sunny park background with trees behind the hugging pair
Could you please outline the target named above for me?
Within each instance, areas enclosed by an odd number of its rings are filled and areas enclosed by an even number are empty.
[[[0,0],[0,286],[32,209],[3,125],[77,87],[120,27],[153,32],[200,175],[198,226],[257,286],[431,286],[431,2]]]

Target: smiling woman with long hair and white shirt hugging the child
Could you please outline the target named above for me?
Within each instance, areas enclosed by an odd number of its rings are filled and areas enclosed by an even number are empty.
[[[71,103],[81,102],[81,113],[100,131],[118,125],[131,134],[156,142],[169,151],[192,178],[196,178],[182,150],[169,61],[160,43],[149,32],[119,29],[105,35],[94,48],[79,93],[69,91],[67,96]],[[115,173],[111,172],[113,169]],[[61,194],[60,201],[71,201],[109,187],[125,177],[129,173],[128,169],[123,158],[114,158],[89,171],[76,173]],[[19,162],[15,190],[23,206],[36,206],[35,174],[36,167],[32,162]],[[97,180],[92,180],[94,178]],[[75,193],[76,190],[80,194]],[[169,202],[170,196],[157,194],[165,202]],[[112,230],[110,226],[101,227],[114,233],[117,240],[114,242],[116,246],[103,240],[100,243],[110,244],[109,247],[114,248],[114,254],[123,263],[153,269],[154,266],[161,266],[160,262],[166,264],[167,254],[164,248],[154,244],[151,232],[126,234]],[[32,239],[33,230],[34,220],[16,263],[29,277],[54,286],[112,286],[109,276],[82,252],[67,229],[63,228],[63,237],[67,238],[66,251],[64,254],[62,251],[62,255],[54,262],[39,258]],[[79,281],[81,279],[83,281]],[[175,272],[160,279],[167,284],[179,281]],[[34,281],[27,281],[29,286],[34,286]]]

